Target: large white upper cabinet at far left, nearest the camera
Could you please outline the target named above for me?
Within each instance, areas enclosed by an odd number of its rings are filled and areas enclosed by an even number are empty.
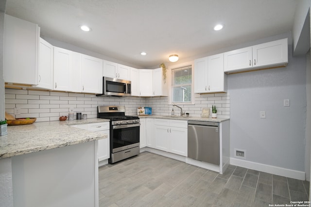
[[[3,78],[7,83],[37,85],[40,28],[4,16]]]

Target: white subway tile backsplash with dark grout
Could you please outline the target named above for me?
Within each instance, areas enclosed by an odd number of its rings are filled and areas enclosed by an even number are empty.
[[[203,108],[216,105],[218,117],[230,117],[230,96],[228,93],[195,94],[195,104],[177,104],[190,116],[200,117]],[[18,99],[19,98],[19,99]],[[21,115],[16,118],[36,117],[37,121],[58,121],[59,116],[68,116],[69,108],[76,113],[87,114],[88,118],[97,117],[98,105],[125,105],[126,115],[137,115],[138,106],[152,107],[154,115],[170,115],[180,109],[169,104],[168,97],[97,97],[93,94],[66,93],[5,89],[5,109],[14,115],[14,108],[19,107]],[[211,113],[211,110],[210,110]]]

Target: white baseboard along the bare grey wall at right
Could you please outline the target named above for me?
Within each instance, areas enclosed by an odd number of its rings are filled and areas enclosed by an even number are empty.
[[[306,173],[302,171],[295,171],[291,169],[280,168],[280,167],[276,167],[272,165],[266,165],[266,164],[261,164],[257,162],[246,161],[246,160],[237,159],[233,157],[230,157],[230,164],[240,166],[243,168],[256,170],[256,171],[265,172],[265,173],[272,173],[272,174],[281,175],[285,177],[295,178],[299,180],[306,179]]]

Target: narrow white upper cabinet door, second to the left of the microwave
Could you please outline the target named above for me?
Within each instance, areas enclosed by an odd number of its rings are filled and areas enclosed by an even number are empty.
[[[81,53],[72,52],[72,69],[70,75],[71,91],[81,92]]]

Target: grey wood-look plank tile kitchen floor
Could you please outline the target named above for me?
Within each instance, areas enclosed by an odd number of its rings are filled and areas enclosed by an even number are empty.
[[[308,201],[309,185],[232,165],[219,174],[148,152],[99,168],[100,207],[268,207]]]

